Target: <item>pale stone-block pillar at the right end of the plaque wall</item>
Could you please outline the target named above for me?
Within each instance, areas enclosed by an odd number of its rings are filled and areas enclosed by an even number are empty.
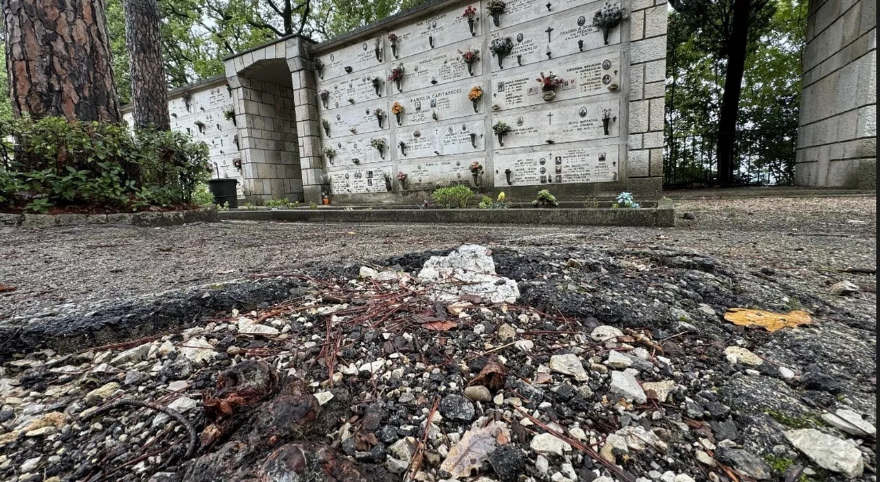
[[[633,0],[629,22],[627,175],[649,178],[658,187],[663,179],[666,11],[666,0]]]

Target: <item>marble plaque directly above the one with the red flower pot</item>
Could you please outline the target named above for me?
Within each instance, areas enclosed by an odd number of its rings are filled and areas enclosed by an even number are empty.
[[[498,57],[492,56],[489,62],[491,71],[512,69],[519,65],[559,59],[605,47],[602,30],[590,25],[591,18],[591,11],[579,9],[554,17],[539,18],[521,26],[496,30],[491,38],[510,37],[513,50],[502,58],[501,66]],[[620,44],[620,26],[612,29],[608,35],[608,45],[617,44]],[[488,62],[488,59],[485,60]]]

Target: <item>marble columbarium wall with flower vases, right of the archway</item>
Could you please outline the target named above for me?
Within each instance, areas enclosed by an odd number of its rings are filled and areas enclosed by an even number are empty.
[[[603,4],[509,0],[494,17],[487,2],[434,2],[312,46],[318,68],[302,66],[297,124],[300,110],[317,122],[311,139],[300,132],[300,149],[309,144],[340,201],[451,183],[531,197],[540,188],[657,196],[667,7],[625,1],[628,18],[605,35],[591,25]],[[493,55],[505,38],[510,52]],[[469,49],[479,60],[465,62]],[[561,79],[554,94],[537,80],[550,72]],[[510,131],[497,135],[499,123]]]

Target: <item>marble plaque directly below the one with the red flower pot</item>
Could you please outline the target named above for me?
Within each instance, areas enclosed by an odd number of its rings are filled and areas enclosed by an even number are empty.
[[[602,117],[605,112],[612,119],[605,135]],[[499,140],[495,135],[494,149],[547,145],[561,142],[589,141],[616,138],[620,135],[620,100],[601,100],[567,105],[549,102],[519,113],[493,113],[492,125],[499,120],[510,127],[510,132]],[[493,132],[494,135],[494,132]]]

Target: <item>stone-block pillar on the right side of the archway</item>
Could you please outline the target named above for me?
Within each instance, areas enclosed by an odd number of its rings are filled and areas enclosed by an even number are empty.
[[[287,49],[287,64],[293,83],[294,113],[299,144],[299,165],[302,169],[305,202],[321,202],[321,179],[326,175],[321,152],[320,117],[315,73],[309,48],[312,42],[297,39]]]

